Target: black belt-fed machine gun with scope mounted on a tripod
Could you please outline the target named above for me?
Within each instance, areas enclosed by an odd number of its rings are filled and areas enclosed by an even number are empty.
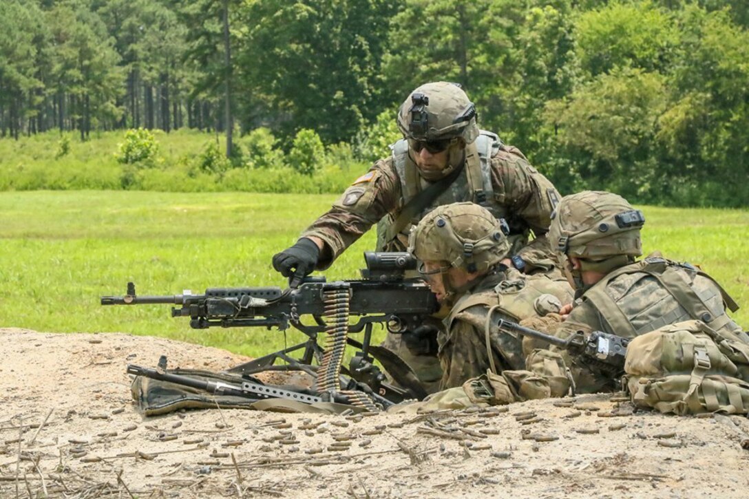
[[[124,296],[101,297],[102,305],[143,305],[171,303],[172,317],[189,317],[190,327],[294,327],[305,333],[305,342],[228,370],[249,378],[268,370],[301,370],[315,378],[315,390],[333,394],[349,393],[348,399],[362,399],[357,393],[379,405],[390,405],[404,399],[426,396],[416,375],[397,355],[386,348],[371,345],[372,325],[384,324],[392,333],[404,333],[422,324],[437,312],[437,298],[420,279],[406,279],[406,270],[416,268],[416,260],[407,252],[365,252],[363,279],[327,282],[324,277],[308,277],[296,289],[208,288],[204,294],[172,296],[139,296],[133,282],[127,284]],[[303,317],[312,316],[312,323]],[[350,318],[357,321],[350,324]],[[363,341],[348,337],[364,332]],[[318,334],[326,333],[325,347],[318,345]],[[358,351],[348,369],[342,369],[346,345]],[[303,350],[300,359],[290,354]],[[401,387],[385,382],[385,375],[373,363],[380,361]],[[276,365],[284,360],[285,365]],[[318,366],[313,366],[316,360]],[[147,375],[150,370],[129,366],[129,372]],[[344,372],[349,378],[341,376]],[[151,376],[153,377],[153,376]],[[254,378],[252,378],[254,380]],[[364,405],[368,405],[362,402]],[[356,405],[356,404],[355,404]]]

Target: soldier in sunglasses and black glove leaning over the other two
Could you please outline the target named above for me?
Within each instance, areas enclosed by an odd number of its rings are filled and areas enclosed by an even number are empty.
[[[521,151],[479,130],[476,108],[458,85],[433,82],[416,88],[401,105],[398,128],[404,139],[392,145],[392,155],[357,178],[294,246],[273,256],[273,267],[291,278],[291,287],[312,270],[330,267],[376,223],[377,249],[403,251],[410,227],[425,214],[467,201],[509,223],[507,267],[525,273],[554,270],[545,235],[559,193]],[[529,243],[531,233],[535,238]],[[415,357],[393,335],[386,346],[425,383],[440,379],[434,352]]]

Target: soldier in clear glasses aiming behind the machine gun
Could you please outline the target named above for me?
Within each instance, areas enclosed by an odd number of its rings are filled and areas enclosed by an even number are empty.
[[[490,368],[524,369],[521,338],[485,333],[489,315],[521,321],[559,312],[572,300],[564,279],[528,276],[502,263],[510,248],[506,232],[503,220],[473,203],[440,206],[411,232],[408,249],[420,261],[419,272],[437,299],[452,305],[438,336],[442,390]]]

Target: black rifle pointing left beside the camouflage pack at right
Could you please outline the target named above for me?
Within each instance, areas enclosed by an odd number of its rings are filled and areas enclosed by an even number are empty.
[[[622,338],[622,336],[604,333],[603,331],[593,331],[586,337],[583,331],[577,331],[567,339],[562,339],[530,329],[530,327],[521,326],[512,321],[506,321],[503,318],[498,319],[497,324],[494,325],[499,330],[530,336],[564,348],[570,354],[580,357],[583,363],[604,374],[616,376],[624,372],[624,361],[629,340]]]

